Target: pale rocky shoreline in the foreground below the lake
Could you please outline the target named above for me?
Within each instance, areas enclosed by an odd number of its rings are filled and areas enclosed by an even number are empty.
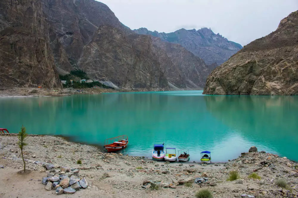
[[[74,187],[77,191],[71,195],[72,198],[195,197],[201,189],[209,189],[216,198],[298,197],[298,164],[286,157],[255,150],[241,153],[237,159],[227,163],[202,166],[197,163],[156,162],[143,157],[102,153],[96,146],[69,142],[62,137],[29,135],[24,158],[31,172],[20,175],[18,172],[23,162],[16,135],[0,135],[1,198],[24,197],[21,194],[26,194],[26,197],[56,196],[55,190],[46,190],[55,188],[48,182],[53,185],[58,178],[63,180],[67,177],[71,180],[73,175],[76,179],[86,181],[86,184],[88,181],[88,187],[85,186],[84,190]],[[231,171],[237,172],[238,176],[228,181]],[[251,178],[252,173],[260,178]],[[49,176],[58,178],[52,178],[53,181],[48,178],[44,186],[43,178]],[[281,180],[286,186],[278,186]],[[64,187],[66,193],[69,190],[72,192],[69,183],[67,188],[66,185]],[[63,191],[62,188],[59,193]]]

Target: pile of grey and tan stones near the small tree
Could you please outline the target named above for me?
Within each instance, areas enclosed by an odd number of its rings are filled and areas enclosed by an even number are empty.
[[[46,185],[46,190],[55,189],[56,194],[74,194],[81,188],[88,188],[86,179],[79,177],[79,169],[54,164],[46,165],[46,169],[50,171],[46,177],[42,178],[42,184]]]

